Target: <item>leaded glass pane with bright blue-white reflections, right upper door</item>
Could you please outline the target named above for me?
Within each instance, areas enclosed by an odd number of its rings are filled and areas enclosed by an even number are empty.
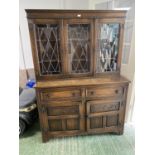
[[[117,68],[119,24],[98,25],[96,72],[112,72]]]

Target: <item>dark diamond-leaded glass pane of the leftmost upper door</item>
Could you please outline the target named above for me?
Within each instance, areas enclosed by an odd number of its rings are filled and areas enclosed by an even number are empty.
[[[41,75],[60,74],[62,69],[59,26],[37,25],[36,37]]]

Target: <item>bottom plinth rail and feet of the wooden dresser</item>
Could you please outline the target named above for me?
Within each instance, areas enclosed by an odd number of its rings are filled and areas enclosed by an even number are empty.
[[[115,129],[114,129],[115,128]],[[77,132],[77,133],[72,133],[72,132],[60,132],[57,134],[53,134],[52,132],[42,132],[42,142],[47,142],[51,138],[62,138],[62,137],[72,137],[72,136],[84,136],[84,135],[98,135],[98,134],[117,134],[117,135],[122,135],[124,132],[124,129],[114,127],[113,129],[107,129],[105,131],[88,131],[88,132]]]

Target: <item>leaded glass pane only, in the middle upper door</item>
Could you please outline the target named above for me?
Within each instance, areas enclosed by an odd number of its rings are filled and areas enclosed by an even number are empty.
[[[90,25],[68,25],[69,70],[71,73],[90,72]]]

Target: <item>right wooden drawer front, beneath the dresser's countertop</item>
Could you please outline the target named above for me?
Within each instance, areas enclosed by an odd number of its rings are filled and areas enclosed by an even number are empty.
[[[123,87],[98,87],[86,90],[87,97],[121,97],[123,95]]]

